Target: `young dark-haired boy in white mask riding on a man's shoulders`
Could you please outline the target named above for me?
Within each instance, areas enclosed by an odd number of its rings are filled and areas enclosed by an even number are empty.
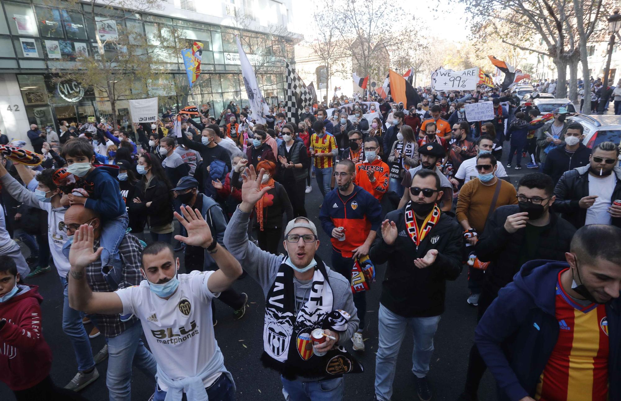
[[[66,171],[86,182],[86,191],[73,190],[68,194],[70,205],[78,203],[93,209],[103,219],[101,234],[102,273],[111,287],[119,287],[121,264],[119,244],[122,241],[129,221],[125,202],[120,196],[119,167],[116,165],[97,165],[93,146],[85,139],[67,142],[62,156],[67,162]],[[79,180],[78,180],[79,181]],[[88,195],[88,196],[83,196]],[[88,222],[85,222],[88,224]],[[68,255],[68,247],[63,249]]]

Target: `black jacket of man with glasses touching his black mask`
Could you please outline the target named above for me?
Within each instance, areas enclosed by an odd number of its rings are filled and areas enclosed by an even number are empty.
[[[500,206],[485,224],[484,234],[476,243],[476,256],[481,262],[490,262],[485,272],[488,283],[499,290],[513,281],[513,276],[522,267],[519,263],[520,254],[524,251],[525,228],[510,234],[505,230],[507,216],[520,213],[519,205]],[[565,252],[569,252],[569,242],[576,228],[556,213],[550,213],[550,224],[539,237],[540,247],[534,259],[565,260]]]

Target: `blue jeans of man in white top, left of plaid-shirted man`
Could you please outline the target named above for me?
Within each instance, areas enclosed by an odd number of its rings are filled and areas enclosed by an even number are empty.
[[[69,336],[73,352],[78,361],[78,371],[88,371],[95,366],[93,351],[91,350],[91,340],[88,338],[82,323],[82,313],[69,306],[69,295],[67,280],[60,277],[63,285],[63,332]]]

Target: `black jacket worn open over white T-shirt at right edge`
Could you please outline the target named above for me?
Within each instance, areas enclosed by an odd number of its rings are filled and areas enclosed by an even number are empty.
[[[617,183],[612,191],[610,203],[621,199],[621,168],[615,167],[612,173],[617,176]],[[576,226],[576,228],[584,226],[586,209],[581,208],[578,202],[584,196],[589,196],[589,165],[576,167],[563,173],[561,179],[556,183],[554,195],[556,196],[556,201],[552,208],[561,213],[561,216]],[[612,225],[621,227],[621,218],[613,218]]]

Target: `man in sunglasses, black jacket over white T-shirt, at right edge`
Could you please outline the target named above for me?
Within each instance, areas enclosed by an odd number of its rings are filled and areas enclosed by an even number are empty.
[[[602,142],[593,148],[589,165],[563,173],[558,180],[555,211],[581,228],[586,224],[612,224],[621,227],[621,168],[619,147]]]

